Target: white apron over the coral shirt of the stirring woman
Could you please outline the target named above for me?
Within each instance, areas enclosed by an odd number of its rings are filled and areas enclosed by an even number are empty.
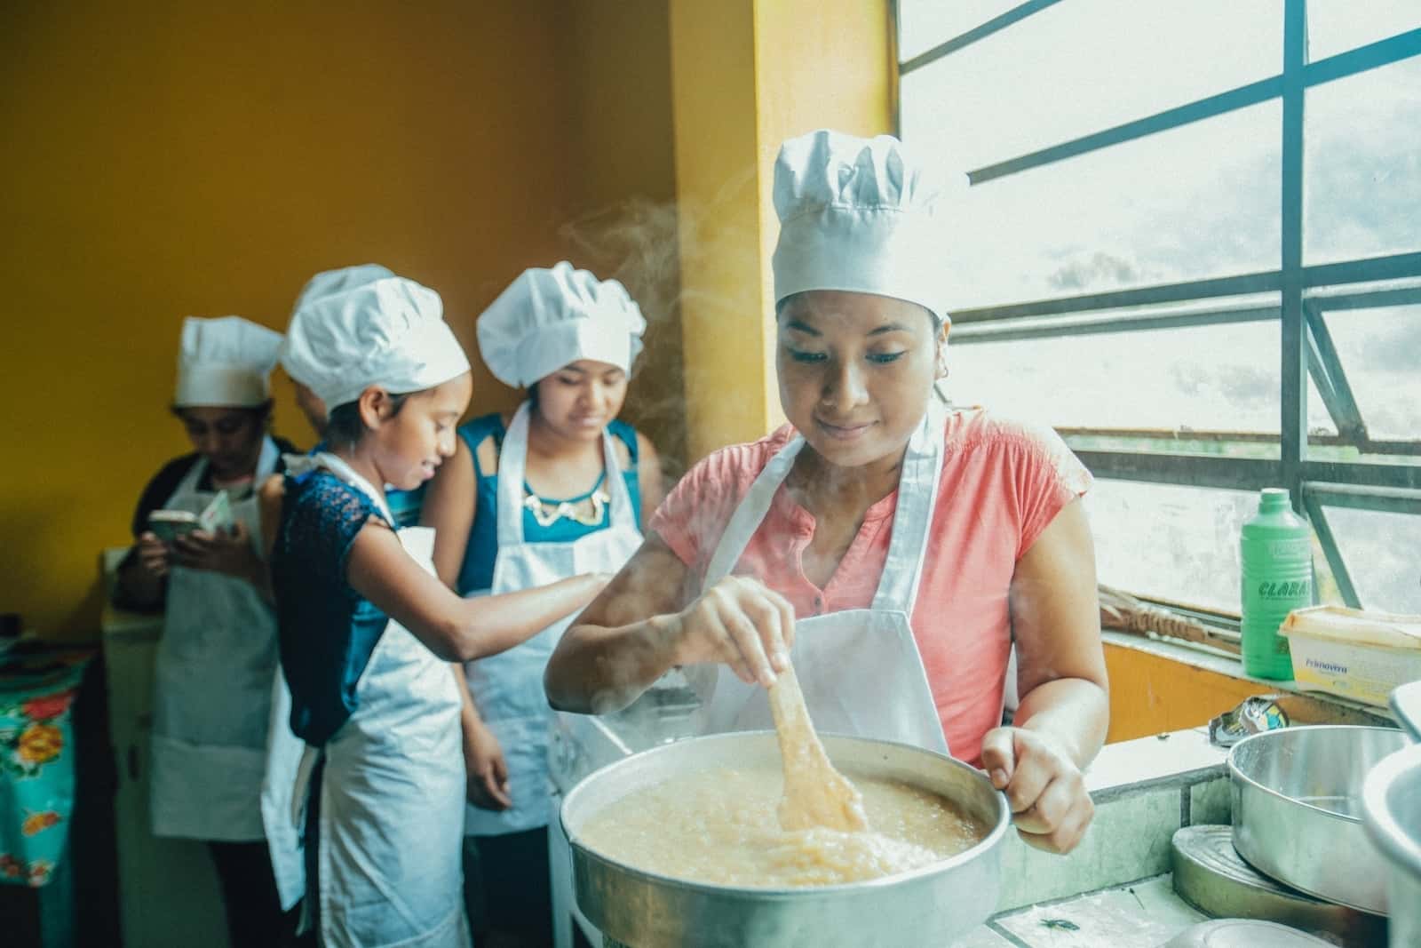
[[[942,473],[944,422],[942,409],[929,406],[908,441],[888,559],[872,605],[794,623],[790,659],[814,726],[824,733],[898,740],[948,753],[908,624]],[[803,435],[796,435],[755,479],[710,557],[703,588],[735,569],[803,446]],[[764,688],[746,685],[725,665],[715,671],[701,712],[708,733],[774,726]]]

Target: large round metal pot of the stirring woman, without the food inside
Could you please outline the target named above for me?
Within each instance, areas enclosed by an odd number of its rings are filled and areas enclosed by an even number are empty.
[[[1000,843],[1010,812],[990,780],[951,758],[901,743],[824,735],[836,765],[924,787],[990,829],[952,858],[845,885],[733,888],[669,878],[611,860],[581,840],[610,803],[672,776],[715,767],[777,766],[773,731],[678,740],[620,760],[563,800],[578,908],[607,937],[635,948],[922,948],[945,945],[996,910]]]

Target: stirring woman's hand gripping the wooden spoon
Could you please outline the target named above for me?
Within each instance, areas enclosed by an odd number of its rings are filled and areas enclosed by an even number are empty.
[[[747,685],[773,685],[793,644],[794,607],[750,577],[723,577],[676,615],[676,665],[723,662]]]

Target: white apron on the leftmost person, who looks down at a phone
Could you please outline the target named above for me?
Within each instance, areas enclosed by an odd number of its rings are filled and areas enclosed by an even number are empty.
[[[266,438],[253,485],[276,470]],[[198,460],[163,505],[200,513],[215,496],[199,490]],[[261,550],[256,493],[232,516]],[[271,679],[277,674],[276,614],[254,586],[234,576],[173,566],[163,637],[153,668],[152,782],[155,836],[254,841],[261,826]]]

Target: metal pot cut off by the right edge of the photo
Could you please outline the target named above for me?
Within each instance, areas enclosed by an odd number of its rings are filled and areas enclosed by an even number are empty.
[[[1391,692],[1397,718],[1421,740],[1421,681]],[[1421,945],[1421,745],[1378,763],[1361,790],[1367,833],[1391,864],[1391,948]]]

